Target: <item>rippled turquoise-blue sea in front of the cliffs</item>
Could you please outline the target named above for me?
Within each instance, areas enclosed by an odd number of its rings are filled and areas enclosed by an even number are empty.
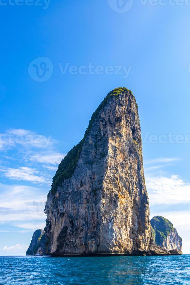
[[[0,284],[190,284],[190,255],[1,256]]]

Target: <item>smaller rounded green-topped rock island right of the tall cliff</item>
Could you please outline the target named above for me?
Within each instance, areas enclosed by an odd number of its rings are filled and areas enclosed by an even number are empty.
[[[182,238],[169,220],[162,216],[156,216],[151,219],[150,223],[154,243],[166,250],[182,251]]]

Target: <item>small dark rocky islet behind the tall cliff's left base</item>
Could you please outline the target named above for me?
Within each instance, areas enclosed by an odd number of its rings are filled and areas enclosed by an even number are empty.
[[[45,232],[42,229],[37,229],[32,236],[32,241],[26,251],[26,255],[45,254]]]

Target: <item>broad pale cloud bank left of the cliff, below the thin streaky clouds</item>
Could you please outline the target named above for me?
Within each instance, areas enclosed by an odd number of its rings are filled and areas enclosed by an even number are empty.
[[[48,188],[0,184],[0,192],[0,224],[9,223],[14,227],[27,224],[26,229],[33,229],[34,224],[45,222]]]

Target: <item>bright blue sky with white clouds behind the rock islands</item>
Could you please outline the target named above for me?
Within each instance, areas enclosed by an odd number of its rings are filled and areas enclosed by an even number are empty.
[[[139,106],[151,217],[190,253],[190,6],[154,3],[1,1],[0,255],[25,254],[59,162],[119,86]]]

